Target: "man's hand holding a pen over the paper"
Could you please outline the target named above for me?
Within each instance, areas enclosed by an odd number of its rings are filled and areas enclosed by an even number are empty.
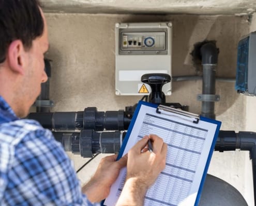
[[[148,141],[153,152],[146,149]],[[135,144],[128,152],[126,183],[116,205],[143,205],[148,187],[165,168],[166,155],[167,144],[157,135],[144,136]]]

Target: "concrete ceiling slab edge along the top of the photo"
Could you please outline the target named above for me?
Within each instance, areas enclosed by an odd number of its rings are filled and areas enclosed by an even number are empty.
[[[201,15],[249,14],[254,0],[41,0],[47,12],[65,13],[176,13]]]

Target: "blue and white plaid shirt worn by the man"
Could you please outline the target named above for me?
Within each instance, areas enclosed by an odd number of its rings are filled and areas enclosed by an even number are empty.
[[[82,194],[73,165],[51,131],[19,119],[1,96],[0,204],[93,205]]]

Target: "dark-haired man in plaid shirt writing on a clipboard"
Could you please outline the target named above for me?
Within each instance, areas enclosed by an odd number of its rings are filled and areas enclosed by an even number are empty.
[[[145,136],[122,159],[103,158],[82,187],[71,161],[49,130],[20,119],[47,81],[49,48],[46,19],[37,0],[0,0],[0,204],[94,205],[109,194],[119,170],[127,180],[117,205],[142,205],[147,188],[165,167],[167,145]],[[143,152],[141,152],[143,151]],[[97,203],[95,203],[97,205]]]

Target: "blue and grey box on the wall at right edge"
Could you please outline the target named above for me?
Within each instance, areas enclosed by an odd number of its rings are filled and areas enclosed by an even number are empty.
[[[238,43],[235,90],[256,95],[256,31]]]

